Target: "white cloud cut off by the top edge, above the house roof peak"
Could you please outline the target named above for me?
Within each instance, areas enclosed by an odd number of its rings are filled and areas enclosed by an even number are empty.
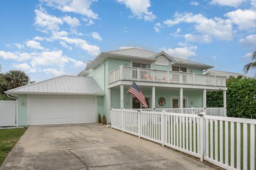
[[[132,16],[145,21],[154,21],[156,16],[148,8],[151,6],[150,0],[117,0],[118,3],[125,4],[126,8],[130,8]]]

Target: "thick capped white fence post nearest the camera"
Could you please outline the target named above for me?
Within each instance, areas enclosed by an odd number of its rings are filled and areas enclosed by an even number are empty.
[[[198,116],[200,116],[200,160],[204,160],[204,152],[205,152],[205,119],[204,119],[205,113],[199,113]],[[198,132],[197,132],[198,133]],[[198,134],[197,134],[198,135]],[[208,141],[207,141],[208,142]]]

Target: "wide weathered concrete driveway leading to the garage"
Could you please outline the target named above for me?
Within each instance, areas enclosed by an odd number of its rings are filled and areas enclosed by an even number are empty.
[[[29,126],[2,169],[211,169],[98,124]]]

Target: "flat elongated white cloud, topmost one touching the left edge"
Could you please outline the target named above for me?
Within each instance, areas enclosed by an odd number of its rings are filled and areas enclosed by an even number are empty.
[[[19,52],[4,52],[0,51],[0,58],[3,60],[15,60],[15,61],[26,61],[31,58],[29,53],[19,53]]]

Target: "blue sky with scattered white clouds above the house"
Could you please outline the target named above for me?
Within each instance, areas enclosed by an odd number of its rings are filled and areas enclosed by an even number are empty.
[[[100,52],[127,47],[238,73],[256,50],[256,0],[10,0],[0,22],[2,72],[36,81],[77,75]]]

